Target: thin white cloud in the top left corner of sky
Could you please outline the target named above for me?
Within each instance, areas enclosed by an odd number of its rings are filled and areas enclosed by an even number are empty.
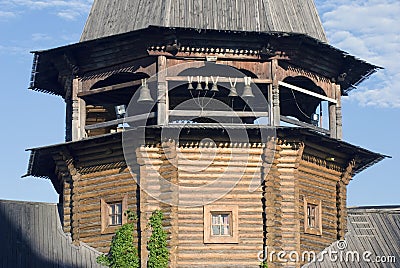
[[[81,16],[86,16],[92,3],[93,0],[0,0],[0,5],[8,10],[5,13],[15,14],[16,11],[21,11],[21,9],[47,9],[66,20],[75,20]]]

